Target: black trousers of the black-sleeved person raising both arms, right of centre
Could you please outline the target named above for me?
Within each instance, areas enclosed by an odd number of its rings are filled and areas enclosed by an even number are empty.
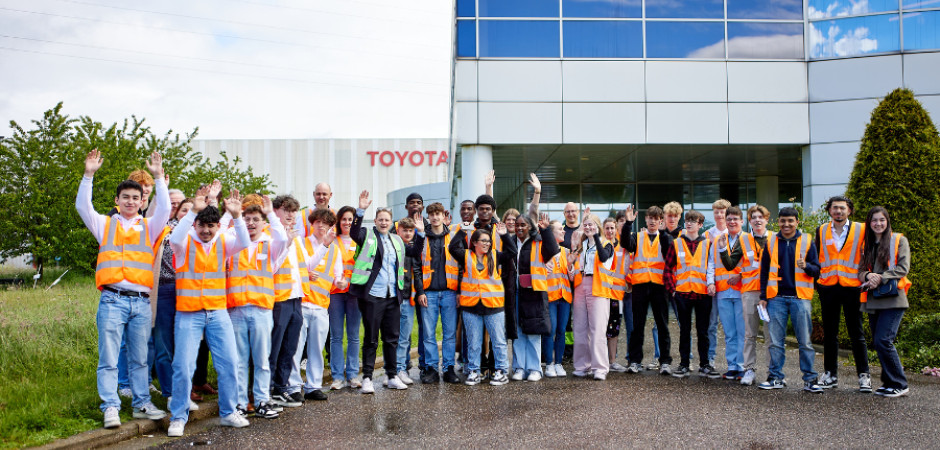
[[[659,363],[672,364],[669,348],[669,302],[666,301],[666,288],[661,284],[643,283],[633,286],[633,332],[630,333],[628,353],[630,363],[643,362],[643,335],[646,334],[646,313],[653,308],[653,320],[659,332]]]

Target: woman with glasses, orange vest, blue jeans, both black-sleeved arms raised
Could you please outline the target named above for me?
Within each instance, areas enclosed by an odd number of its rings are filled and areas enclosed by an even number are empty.
[[[460,281],[460,297],[464,327],[467,333],[467,385],[483,381],[480,374],[480,354],[483,348],[483,330],[490,335],[495,355],[496,371],[490,379],[494,386],[509,382],[506,372],[509,370],[509,355],[506,349],[506,319],[504,316],[505,290],[500,277],[503,267],[512,264],[515,257],[515,244],[506,234],[506,225],[495,226],[496,233],[503,241],[503,251],[493,250],[491,235],[486,230],[478,229],[470,236],[470,249],[464,249],[467,232],[473,230],[470,222],[464,222],[451,239],[447,251],[457,260],[463,276]]]

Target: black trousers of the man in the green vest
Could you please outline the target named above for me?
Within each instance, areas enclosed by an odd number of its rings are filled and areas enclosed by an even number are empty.
[[[401,328],[401,306],[398,297],[373,297],[366,294],[359,299],[362,313],[362,377],[372,378],[375,370],[375,352],[379,348],[379,331],[382,332],[382,355],[385,357],[385,373],[391,378],[398,375],[398,330]]]

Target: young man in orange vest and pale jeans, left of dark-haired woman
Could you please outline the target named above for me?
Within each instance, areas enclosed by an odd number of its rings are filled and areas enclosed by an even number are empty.
[[[342,250],[335,239],[336,215],[329,209],[316,209],[307,220],[313,233],[300,240],[303,256],[307,258],[301,302],[303,322],[296,350],[292,353],[289,387],[279,397],[274,397],[274,401],[290,408],[302,406],[304,400],[327,400],[323,393],[323,347],[330,328],[330,293],[334,288],[342,289],[349,284],[349,279],[343,275]],[[306,368],[301,366],[303,359],[307,360]],[[306,369],[306,381],[301,369]]]

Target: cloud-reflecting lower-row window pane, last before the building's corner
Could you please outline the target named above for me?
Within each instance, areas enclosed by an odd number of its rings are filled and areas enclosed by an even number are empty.
[[[803,59],[803,24],[728,22],[728,57]]]

